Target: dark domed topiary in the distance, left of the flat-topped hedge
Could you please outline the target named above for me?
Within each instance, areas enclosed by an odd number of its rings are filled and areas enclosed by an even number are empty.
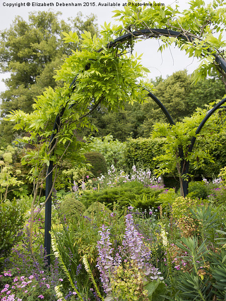
[[[92,165],[90,172],[93,174],[94,178],[99,177],[101,174],[107,172],[106,160],[102,154],[98,152],[89,152],[84,154],[86,160]]]

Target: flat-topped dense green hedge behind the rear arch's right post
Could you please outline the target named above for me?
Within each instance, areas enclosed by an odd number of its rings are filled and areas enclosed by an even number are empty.
[[[144,168],[153,170],[157,167],[157,162],[153,158],[159,156],[162,152],[162,146],[165,138],[138,138],[128,139],[125,148],[125,159],[129,169],[135,164],[142,165]],[[226,166],[226,134],[213,134],[211,140],[205,137],[199,137],[195,143],[195,147],[200,147],[213,158],[215,164],[205,161],[205,167],[194,171],[190,164],[190,174],[196,177],[212,178],[217,177],[220,168]]]

